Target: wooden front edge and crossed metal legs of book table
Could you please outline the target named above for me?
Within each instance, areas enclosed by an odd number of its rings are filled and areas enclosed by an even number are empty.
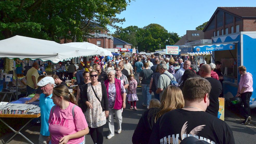
[[[29,141],[30,143],[34,144],[32,141],[30,141],[26,136],[24,136],[20,131],[26,127],[29,122],[31,122],[34,118],[38,118],[41,116],[41,113],[37,114],[37,115],[18,115],[18,114],[0,114],[0,121],[3,122],[8,128],[10,128],[15,134],[5,143],[8,143],[11,139],[13,139],[13,137],[16,135],[16,134],[20,134],[22,137],[24,137],[27,141]],[[7,123],[5,123],[3,120],[2,120],[2,117],[20,117],[20,118],[30,118],[30,120],[21,128],[19,129],[18,131],[14,130],[12,127],[10,127]]]

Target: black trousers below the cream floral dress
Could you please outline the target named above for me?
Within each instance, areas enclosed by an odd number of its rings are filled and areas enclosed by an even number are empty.
[[[103,126],[97,128],[89,127],[93,143],[103,144]]]

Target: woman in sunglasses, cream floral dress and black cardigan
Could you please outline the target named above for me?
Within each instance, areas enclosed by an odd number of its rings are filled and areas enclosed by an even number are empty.
[[[90,72],[91,83],[84,86],[82,101],[87,105],[85,118],[93,143],[103,143],[103,126],[109,114],[106,86],[98,82],[98,72]],[[105,112],[104,112],[105,111]]]

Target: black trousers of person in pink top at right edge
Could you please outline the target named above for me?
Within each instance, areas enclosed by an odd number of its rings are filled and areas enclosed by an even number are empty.
[[[245,92],[241,94],[241,98],[243,100],[243,107],[241,109],[242,116],[247,118],[251,115],[250,111],[250,97],[252,96],[252,92]]]

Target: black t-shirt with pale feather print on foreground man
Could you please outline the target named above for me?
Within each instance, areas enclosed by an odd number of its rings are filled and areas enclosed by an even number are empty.
[[[216,144],[234,144],[233,132],[226,122],[204,111],[175,109],[160,117],[154,125],[149,144],[180,143],[185,137]]]

